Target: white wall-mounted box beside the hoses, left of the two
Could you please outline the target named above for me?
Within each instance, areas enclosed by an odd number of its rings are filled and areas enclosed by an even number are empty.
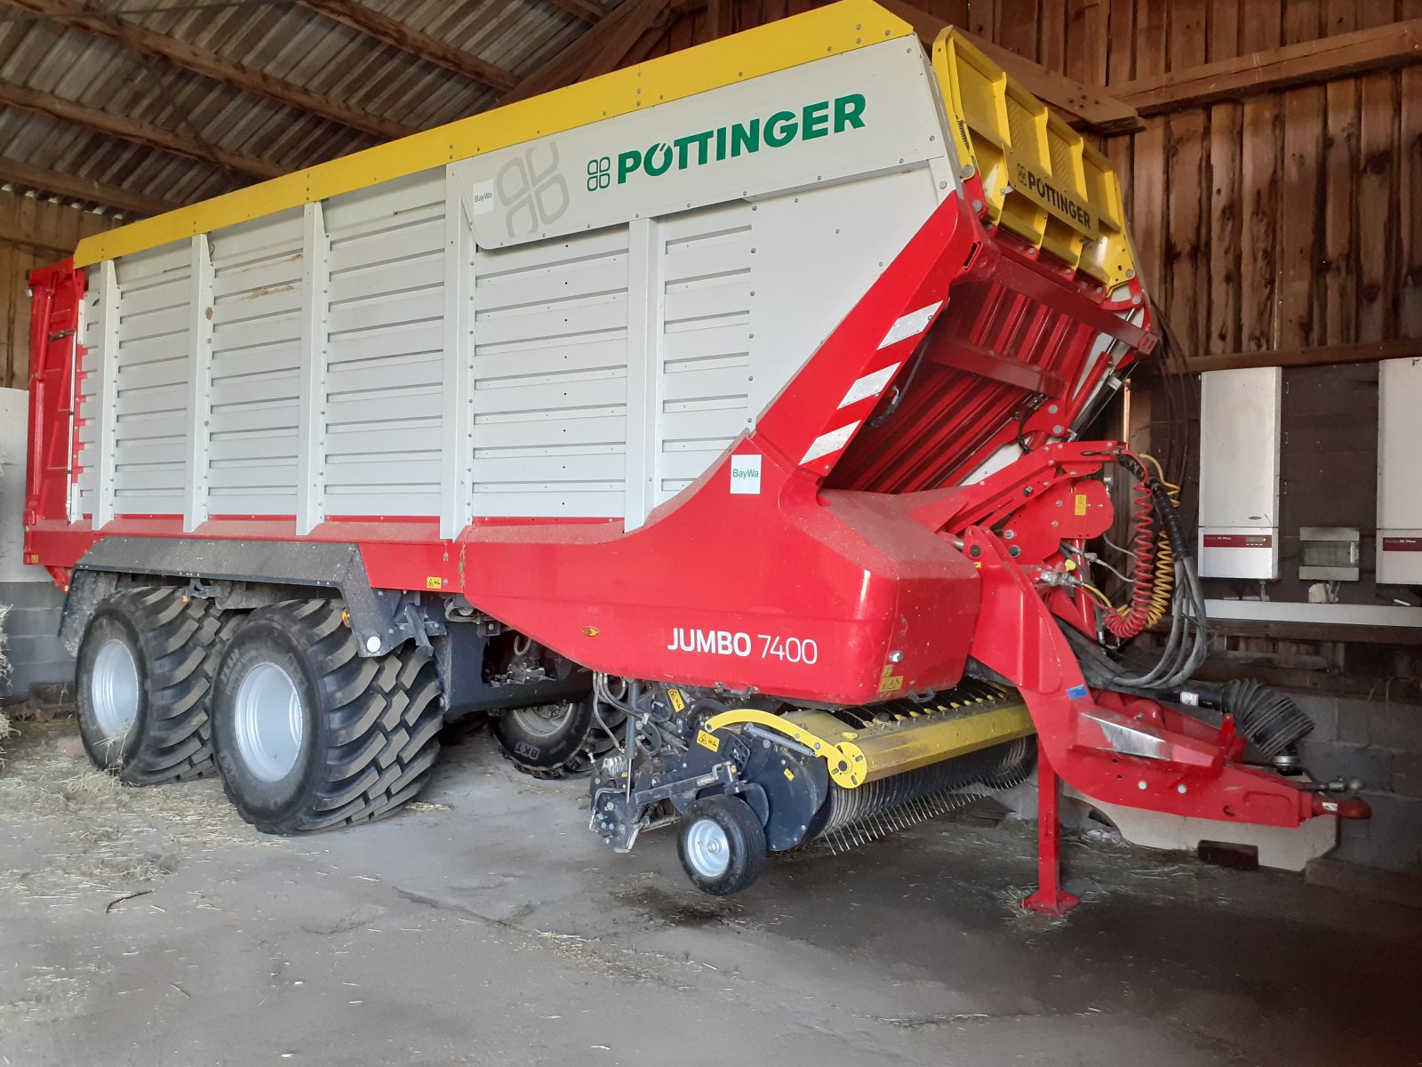
[[[1200,575],[1278,578],[1283,371],[1200,377]]]

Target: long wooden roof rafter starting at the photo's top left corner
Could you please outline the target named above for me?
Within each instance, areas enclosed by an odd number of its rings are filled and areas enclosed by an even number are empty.
[[[63,24],[67,28],[73,27],[94,37],[102,37],[125,48],[131,48],[141,55],[173,63],[245,92],[273,100],[277,104],[284,104],[311,115],[319,115],[331,122],[340,122],[351,129],[363,129],[367,134],[388,139],[415,132],[411,127],[380,118],[378,115],[368,115],[357,107],[341,104],[294,83],[243,67],[240,63],[233,63],[218,55],[215,51],[191,44],[189,41],[182,41],[142,26],[134,26],[111,16],[95,14],[92,9],[85,9],[75,0],[0,0],[0,3],[31,14],[63,17]]]

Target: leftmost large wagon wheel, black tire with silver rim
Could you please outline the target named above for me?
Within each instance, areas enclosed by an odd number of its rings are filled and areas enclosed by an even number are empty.
[[[208,699],[237,617],[172,586],[129,589],[100,603],[80,643],[75,686],[80,738],[95,767],[125,785],[212,771]],[[104,679],[114,680],[109,664],[119,649],[137,683],[122,700],[124,714],[132,714],[127,728],[114,720],[112,687],[107,697],[101,691]]]

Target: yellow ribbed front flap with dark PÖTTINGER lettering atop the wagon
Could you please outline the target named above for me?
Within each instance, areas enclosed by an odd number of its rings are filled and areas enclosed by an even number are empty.
[[[933,44],[933,70],[960,174],[981,178],[988,221],[1106,286],[1135,277],[1106,156],[953,27]]]

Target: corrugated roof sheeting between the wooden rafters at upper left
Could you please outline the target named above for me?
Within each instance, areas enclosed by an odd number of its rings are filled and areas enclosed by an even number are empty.
[[[590,26],[552,0],[361,0],[381,14],[523,78]],[[610,10],[617,0],[597,6]],[[492,107],[501,92],[384,44],[297,0],[109,0],[125,20],[253,71],[425,129]],[[144,14],[137,14],[144,11]],[[378,137],[148,58],[61,18],[0,0],[0,80],[138,120],[294,171]],[[0,156],[125,191],[192,203],[249,185],[247,174],[0,107]],[[50,192],[50,191],[41,191]]]

